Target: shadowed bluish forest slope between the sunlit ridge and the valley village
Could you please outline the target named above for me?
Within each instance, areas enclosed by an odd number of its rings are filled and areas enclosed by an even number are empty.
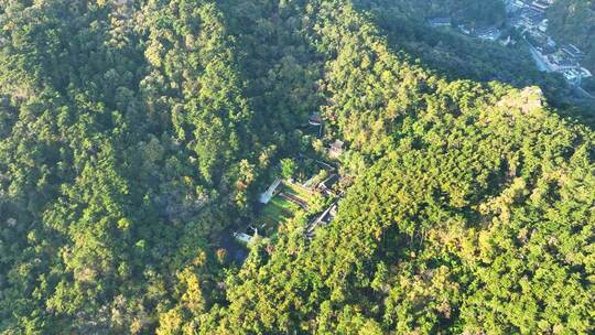
[[[558,114],[595,125],[594,100],[577,95],[561,75],[540,72],[526,44],[504,46],[466,36],[456,30],[431,28],[419,19],[420,13],[414,14],[415,7],[402,4],[407,2],[365,0],[354,3],[359,11],[369,13],[380,34],[387,36],[389,46],[401,51],[411,63],[419,62],[450,80],[498,80],[517,88],[540,86]],[[424,2],[415,3],[420,7]],[[448,3],[444,8],[455,8],[457,2]],[[498,18],[502,11],[489,10],[493,18]],[[470,15],[474,11],[465,13]],[[589,82],[593,80],[583,80],[583,87],[591,89]]]

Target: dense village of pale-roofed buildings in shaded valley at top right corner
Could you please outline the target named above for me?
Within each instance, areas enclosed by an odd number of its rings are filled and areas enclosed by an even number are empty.
[[[529,42],[531,53],[539,67],[560,73],[572,84],[580,86],[583,78],[591,77],[588,69],[581,66],[583,52],[573,44],[556,42],[548,34],[545,10],[554,0],[508,0],[509,22]]]

